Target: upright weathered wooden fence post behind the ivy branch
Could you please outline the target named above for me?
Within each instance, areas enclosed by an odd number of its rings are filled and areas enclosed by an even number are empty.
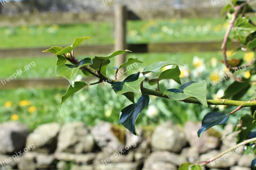
[[[124,5],[115,6],[115,51],[127,49],[126,44],[126,20],[127,8]],[[125,54],[118,55],[115,59],[115,66],[125,63]]]

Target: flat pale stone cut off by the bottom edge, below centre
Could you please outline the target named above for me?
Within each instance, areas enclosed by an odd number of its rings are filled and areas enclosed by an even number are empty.
[[[136,163],[116,163],[116,164],[98,164],[94,166],[94,170],[138,170]]]

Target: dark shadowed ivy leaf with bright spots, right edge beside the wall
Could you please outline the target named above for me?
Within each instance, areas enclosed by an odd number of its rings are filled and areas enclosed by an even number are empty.
[[[239,118],[238,124],[241,126],[236,126],[236,131],[240,131],[240,133],[236,134],[236,143],[243,142],[248,135],[250,134],[251,130],[253,129],[253,117],[252,115],[245,114]]]

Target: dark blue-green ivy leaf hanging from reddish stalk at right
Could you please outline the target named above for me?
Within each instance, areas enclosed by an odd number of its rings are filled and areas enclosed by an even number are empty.
[[[203,118],[202,127],[201,129],[198,130],[197,136],[201,137],[203,133],[207,129],[210,129],[212,126],[226,123],[228,121],[229,116],[230,116],[230,113],[228,114],[224,114],[220,112],[207,113]]]

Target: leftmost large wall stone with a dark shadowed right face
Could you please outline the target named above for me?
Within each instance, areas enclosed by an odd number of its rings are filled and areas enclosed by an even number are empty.
[[[20,122],[0,124],[0,153],[9,154],[23,150],[27,136],[28,128]]]

